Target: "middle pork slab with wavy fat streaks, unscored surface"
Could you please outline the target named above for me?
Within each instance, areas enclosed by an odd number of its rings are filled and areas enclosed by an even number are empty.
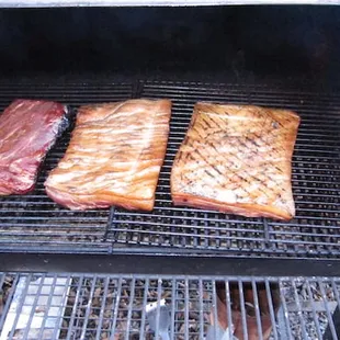
[[[48,196],[71,209],[151,211],[170,115],[169,100],[80,107],[69,147],[45,182]]]

